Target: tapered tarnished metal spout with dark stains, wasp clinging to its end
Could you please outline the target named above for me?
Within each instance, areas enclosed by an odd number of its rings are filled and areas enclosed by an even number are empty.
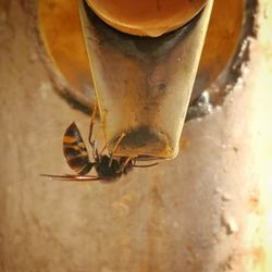
[[[79,1],[100,116],[116,154],[174,158],[212,9],[157,38],[123,34]]]

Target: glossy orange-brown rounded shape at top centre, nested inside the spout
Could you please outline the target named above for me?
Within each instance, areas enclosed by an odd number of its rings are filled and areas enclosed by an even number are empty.
[[[188,23],[207,0],[87,0],[87,3],[120,32],[158,37]]]

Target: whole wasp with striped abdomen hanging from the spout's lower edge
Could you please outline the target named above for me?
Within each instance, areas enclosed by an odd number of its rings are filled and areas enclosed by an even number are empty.
[[[96,147],[96,140],[91,140],[94,121],[96,115],[96,108],[92,112],[90,119],[89,128],[89,144],[92,149],[92,160],[89,159],[89,154],[86,145],[83,140],[81,132],[73,122],[64,133],[63,137],[63,153],[66,159],[67,164],[76,174],[65,174],[65,175],[49,175],[41,174],[41,176],[47,176],[54,180],[61,181],[75,181],[75,182],[113,182],[120,178],[123,174],[127,174],[133,170],[133,168],[149,168],[157,165],[158,162],[148,165],[137,165],[136,158],[133,157],[115,157],[114,152],[120,146],[125,134],[122,134],[116,141],[113,150],[109,154],[103,154],[107,145],[99,152]],[[88,175],[88,173],[95,169],[97,175]]]

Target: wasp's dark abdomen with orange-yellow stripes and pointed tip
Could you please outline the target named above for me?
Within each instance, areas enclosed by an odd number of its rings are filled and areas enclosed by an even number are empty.
[[[89,161],[87,148],[75,122],[69,126],[64,134],[63,153],[70,168],[79,175],[87,174],[95,165]]]

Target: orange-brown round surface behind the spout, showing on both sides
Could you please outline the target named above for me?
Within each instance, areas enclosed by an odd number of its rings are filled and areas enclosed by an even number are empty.
[[[72,88],[69,95],[89,107],[94,86],[84,46],[77,1],[40,0],[39,29],[47,51]],[[239,42],[244,1],[214,1],[211,23],[202,52],[191,101],[214,82]],[[79,99],[78,99],[79,98]]]

